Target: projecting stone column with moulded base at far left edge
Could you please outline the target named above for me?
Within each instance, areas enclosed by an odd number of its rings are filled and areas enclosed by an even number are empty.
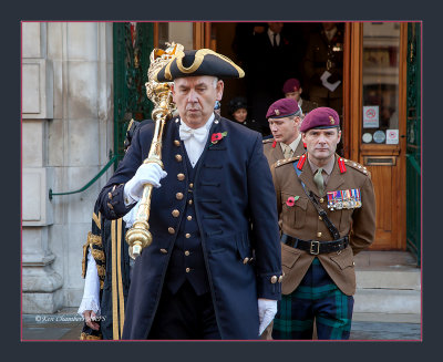
[[[62,307],[62,277],[48,247],[53,223],[45,138],[53,116],[53,69],[47,56],[47,24],[22,23],[22,286],[24,313],[51,313]]]

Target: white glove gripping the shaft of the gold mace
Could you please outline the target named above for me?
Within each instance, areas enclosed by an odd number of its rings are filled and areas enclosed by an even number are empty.
[[[152,184],[154,187],[161,187],[159,180],[166,177],[167,173],[158,164],[143,164],[138,167],[134,177],[131,178],[124,187],[124,196],[130,196],[134,201],[138,201],[143,195],[143,186]]]

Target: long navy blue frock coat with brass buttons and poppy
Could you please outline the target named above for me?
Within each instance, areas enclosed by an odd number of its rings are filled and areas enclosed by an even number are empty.
[[[162,161],[167,176],[152,193],[148,223],[153,242],[134,265],[123,339],[146,339],[150,333],[184,216],[188,180],[179,122],[173,118],[165,125]],[[210,136],[223,132],[227,135],[212,144]],[[137,130],[102,189],[99,198],[105,218],[115,219],[130,210],[124,205],[123,187],[147,157],[153,133],[153,124]],[[257,298],[279,300],[281,294],[276,194],[261,135],[216,115],[196,167],[193,198],[222,339],[258,339]],[[185,178],[179,180],[178,174]],[[178,199],[177,193],[184,197]],[[174,209],[181,211],[178,217],[172,215]]]

